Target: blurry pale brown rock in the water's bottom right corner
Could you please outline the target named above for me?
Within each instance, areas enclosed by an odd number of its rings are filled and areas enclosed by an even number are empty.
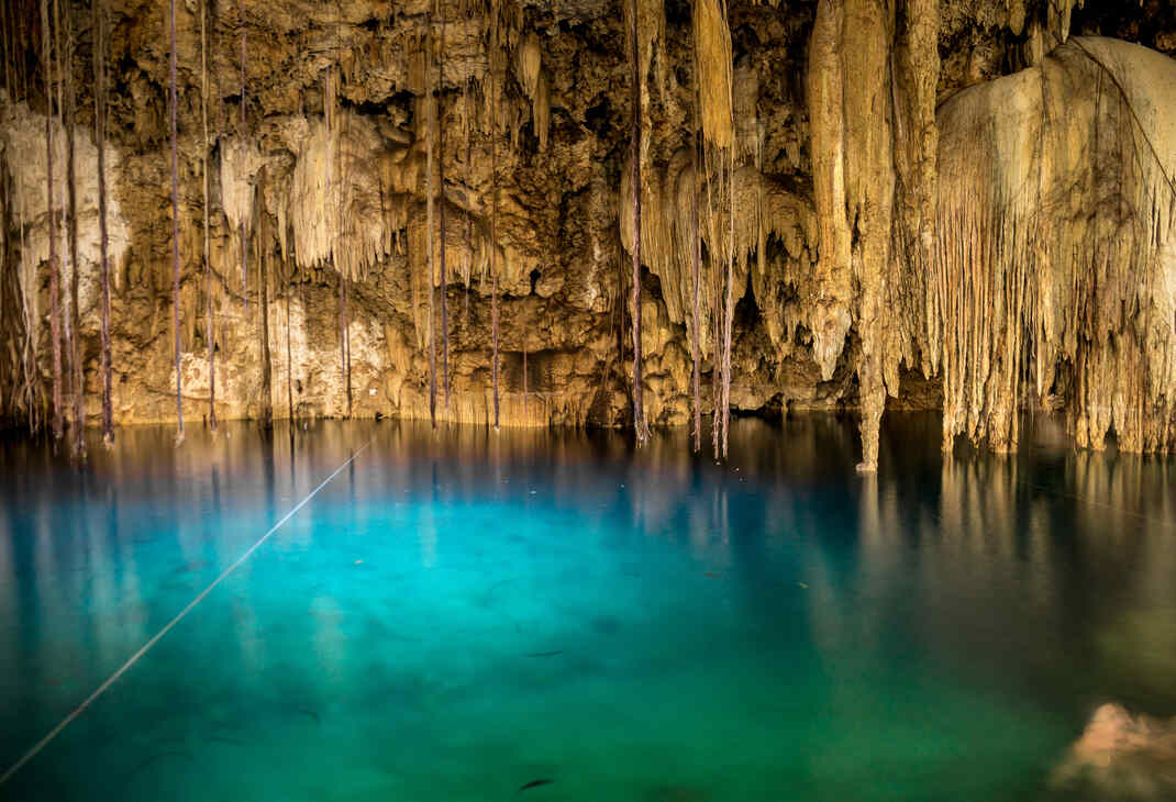
[[[1176,798],[1176,717],[1164,721],[1103,704],[1055,769],[1051,784],[1067,797]]]

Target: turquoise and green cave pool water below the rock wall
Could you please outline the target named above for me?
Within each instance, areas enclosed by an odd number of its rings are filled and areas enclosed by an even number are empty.
[[[1049,426],[944,459],[891,416],[876,479],[833,417],[736,421],[726,466],[171,439],[0,442],[0,770],[358,455],[0,798],[1041,800],[1100,702],[1176,713],[1176,466]]]

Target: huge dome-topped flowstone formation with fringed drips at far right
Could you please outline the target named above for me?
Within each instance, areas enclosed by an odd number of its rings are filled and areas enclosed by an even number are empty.
[[[1015,450],[1023,406],[1064,405],[1081,448],[1176,446],[1170,59],[1071,38],[938,111],[926,347],[943,446]],[[1030,407],[1031,408],[1031,407]]]

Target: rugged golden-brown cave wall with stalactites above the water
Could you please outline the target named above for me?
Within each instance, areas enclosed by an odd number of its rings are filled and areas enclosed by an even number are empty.
[[[1128,6],[640,0],[646,417],[690,416],[697,203],[704,410],[723,313],[709,290],[729,254],[731,407],[858,409],[866,468],[888,407],[942,407],[946,442],[962,434],[1011,449],[1020,412],[1062,408],[1080,445],[1101,447],[1114,430],[1135,450],[1169,448],[1176,258],[1165,143],[1176,140],[1164,138],[1176,118],[1157,87],[1172,62],[1087,36],[1172,53],[1176,20],[1155,0]],[[93,422],[92,11],[62,8],[79,32],[80,348]],[[107,4],[120,423],[175,416],[167,11],[162,0]],[[263,272],[276,416],[428,417],[432,352],[436,416],[493,422],[496,279],[501,422],[626,425],[624,6],[213,1],[206,75],[202,11],[199,0],[176,4],[189,421],[209,408],[209,295],[216,414],[261,414]],[[2,20],[0,415],[16,421],[45,419],[52,375],[44,128],[58,107],[45,100],[38,19],[39,4],[19,0]],[[724,47],[728,68],[716,69]],[[723,143],[727,183],[706,158],[695,166],[696,128]],[[60,133],[55,142],[64,163]],[[65,171],[55,172],[60,218]],[[1037,194],[1010,196],[1025,183]],[[67,279],[72,266],[60,269]]]

